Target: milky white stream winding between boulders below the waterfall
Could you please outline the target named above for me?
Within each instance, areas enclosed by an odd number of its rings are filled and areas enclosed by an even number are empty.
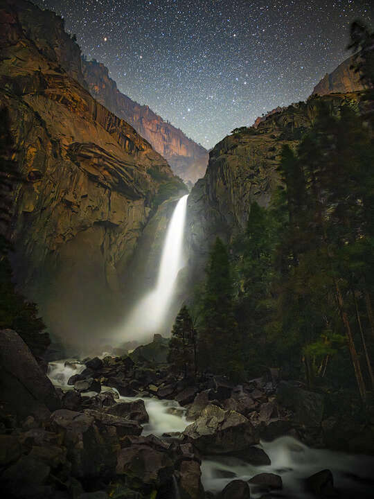
[[[78,361],[65,360],[51,362],[48,377],[52,383],[62,388],[73,389],[67,385],[69,377],[84,369]],[[102,391],[116,389],[102,387]],[[84,394],[95,395],[94,392]],[[141,397],[119,396],[117,402],[134,401]],[[157,398],[141,398],[150,417],[149,423],[143,425],[143,435],[156,435],[172,432],[183,432],[190,421],[186,420],[184,408],[177,401],[159,400]],[[334,475],[337,489],[344,491],[344,498],[371,498],[373,490],[374,458],[364,455],[349,455],[326,449],[314,449],[301,444],[292,437],[281,437],[271,442],[262,442],[260,446],[271,459],[269,466],[252,466],[235,457],[211,456],[202,461],[202,482],[208,491],[222,491],[231,480],[249,480],[258,473],[276,473],[281,475],[283,490],[274,491],[271,497],[310,498],[303,491],[303,480],[313,473],[330,469]],[[369,492],[368,492],[369,491]],[[251,497],[258,498],[261,493],[251,490]]]

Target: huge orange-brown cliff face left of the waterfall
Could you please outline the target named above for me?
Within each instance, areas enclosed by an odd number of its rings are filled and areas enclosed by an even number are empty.
[[[1,3],[0,19],[5,153],[24,180],[15,189],[12,264],[52,333],[83,342],[114,314],[160,186],[181,181],[84,88],[80,49],[62,19],[23,0]]]

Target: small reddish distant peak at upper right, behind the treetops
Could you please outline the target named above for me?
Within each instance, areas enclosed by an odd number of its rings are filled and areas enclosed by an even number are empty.
[[[341,62],[332,73],[326,73],[322,80],[314,87],[312,95],[346,94],[347,92],[364,90],[366,87],[359,80],[359,73],[355,73],[355,69],[351,67],[354,62],[353,56],[351,56]]]

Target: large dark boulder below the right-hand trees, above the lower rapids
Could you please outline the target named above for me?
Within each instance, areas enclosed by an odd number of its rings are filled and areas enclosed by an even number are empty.
[[[276,396],[278,403],[294,412],[296,423],[308,427],[320,426],[324,409],[323,395],[281,381]]]

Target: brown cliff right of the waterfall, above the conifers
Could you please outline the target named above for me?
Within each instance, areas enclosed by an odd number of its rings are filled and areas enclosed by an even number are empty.
[[[324,102],[333,113],[342,103],[359,106],[359,94],[314,96],[269,114],[257,128],[239,128],[211,150],[204,179],[188,197],[190,275],[199,279],[215,238],[229,242],[245,229],[251,202],[267,206],[279,183],[283,144],[296,146]]]

